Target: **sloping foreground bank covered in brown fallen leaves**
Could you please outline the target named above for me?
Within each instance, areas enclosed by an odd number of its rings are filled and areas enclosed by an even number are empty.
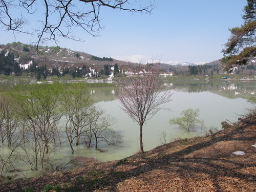
[[[66,172],[18,179],[0,191],[60,185],[61,191],[255,191],[256,116],[214,135],[178,140],[119,161],[78,157],[83,166]],[[243,151],[245,155],[232,152]],[[52,190],[53,191],[53,190]]]

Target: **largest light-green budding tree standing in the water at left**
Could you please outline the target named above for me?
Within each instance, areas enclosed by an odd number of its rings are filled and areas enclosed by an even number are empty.
[[[49,154],[56,147],[58,130],[56,123],[60,119],[59,96],[61,84],[30,84],[16,86],[13,97],[23,117],[24,140],[22,148],[31,166],[38,170],[47,162]]]

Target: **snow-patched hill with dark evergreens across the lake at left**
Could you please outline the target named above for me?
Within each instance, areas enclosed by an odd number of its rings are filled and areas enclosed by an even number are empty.
[[[0,74],[5,75],[31,73],[37,79],[66,74],[98,77],[108,75],[115,64],[125,67],[127,62],[59,47],[39,47],[37,52],[34,46],[21,42],[0,45]]]

